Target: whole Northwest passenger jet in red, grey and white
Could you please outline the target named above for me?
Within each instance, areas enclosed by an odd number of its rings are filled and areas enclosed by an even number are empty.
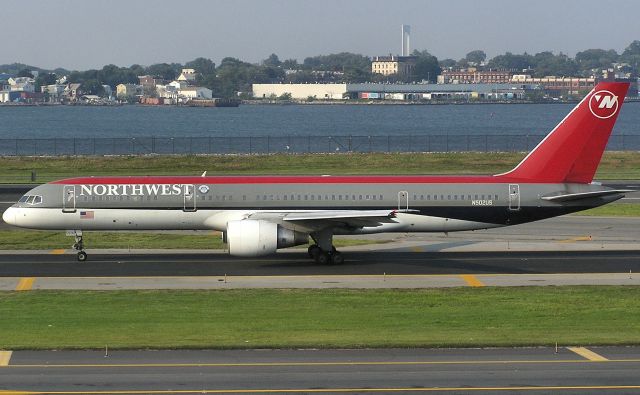
[[[611,203],[631,190],[593,182],[628,83],[600,82],[512,170],[487,176],[79,177],[37,186],[2,218],[31,229],[218,230],[231,255],[313,243],[341,264],[334,235],[455,232],[523,224]],[[472,166],[472,164],[469,164]]]

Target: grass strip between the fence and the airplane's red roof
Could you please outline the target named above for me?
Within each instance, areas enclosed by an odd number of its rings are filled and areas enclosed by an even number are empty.
[[[495,174],[524,153],[274,154],[121,157],[4,157],[0,183],[37,183],[99,175]],[[606,152],[598,179],[640,179],[640,152]]]

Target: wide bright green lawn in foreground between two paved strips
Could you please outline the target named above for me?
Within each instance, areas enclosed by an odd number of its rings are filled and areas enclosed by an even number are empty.
[[[640,287],[1,292],[0,349],[640,344]]]

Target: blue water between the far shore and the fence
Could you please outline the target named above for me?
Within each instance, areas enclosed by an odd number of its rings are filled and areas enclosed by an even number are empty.
[[[0,139],[545,135],[574,104],[0,107]],[[640,134],[627,103],[615,135]]]

